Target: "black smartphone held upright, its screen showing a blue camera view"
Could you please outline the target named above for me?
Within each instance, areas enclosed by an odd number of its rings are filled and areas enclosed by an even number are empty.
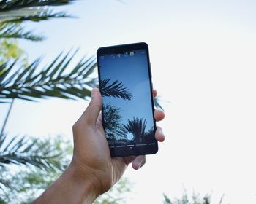
[[[100,47],[97,66],[111,157],[157,153],[148,44]]]

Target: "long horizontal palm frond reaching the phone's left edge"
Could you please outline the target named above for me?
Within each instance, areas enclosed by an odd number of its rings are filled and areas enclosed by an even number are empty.
[[[97,66],[94,58],[82,58],[67,73],[75,53],[59,54],[49,66],[36,72],[39,59],[23,69],[16,69],[16,63],[0,66],[0,101],[20,98],[34,101],[35,98],[57,97],[65,99],[87,99],[97,79],[91,74]]]

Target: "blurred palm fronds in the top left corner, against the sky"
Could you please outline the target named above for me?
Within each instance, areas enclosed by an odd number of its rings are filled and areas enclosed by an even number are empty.
[[[25,31],[23,21],[41,21],[56,17],[72,17],[66,12],[54,12],[50,7],[70,4],[75,0],[10,0],[0,1],[0,38],[20,38],[32,41],[44,39]]]

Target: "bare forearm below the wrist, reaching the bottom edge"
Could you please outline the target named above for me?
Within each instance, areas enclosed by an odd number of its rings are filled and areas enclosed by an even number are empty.
[[[89,204],[93,203],[96,198],[97,193],[90,180],[81,180],[75,174],[75,170],[69,167],[33,204]]]

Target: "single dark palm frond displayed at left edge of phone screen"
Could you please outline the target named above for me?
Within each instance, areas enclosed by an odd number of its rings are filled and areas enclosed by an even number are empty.
[[[132,99],[132,93],[129,93],[127,87],[124,87],[122,82],[115,82],[110,83],[110,79],[101,79],[100,80],[100,87],[102,96],[107,97],[116,97],[116,98],[123,98],[126,100]]]

